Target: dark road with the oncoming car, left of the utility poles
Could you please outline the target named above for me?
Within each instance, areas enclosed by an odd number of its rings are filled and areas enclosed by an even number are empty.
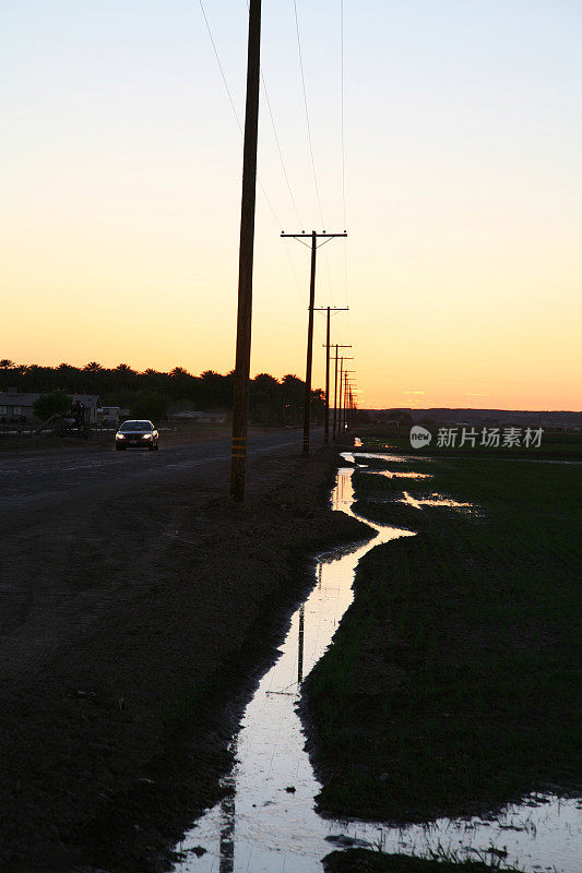
[[[253,467],[265,455],[296,453],[298,444],[298,432],[253,434]],[[151,584],[152,555],[179,526],[164,489],[187,482],[192,505],[224,494],[229,453],[222,439],[159,452],[83,446],[0,457],[0,690],[56,646],[73,645],[108,609],[103,588],[110,587],[120,561],[128,591],[142,581]],[[151,505],[156,489],[164,497]],[[98,586],[95,566],[103,573]]]

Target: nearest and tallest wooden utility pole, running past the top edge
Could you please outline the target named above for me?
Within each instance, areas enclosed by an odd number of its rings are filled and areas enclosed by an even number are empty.
[[[261,73],[261,0],[249,3],[247,107],[242,156],[240,249],[238,261],[237,355],[233,408],[230,497],[242,502],[247,491],[247,426],[252,315],[252,259],[254,253],[254,205],[257,200],[257,140]]]

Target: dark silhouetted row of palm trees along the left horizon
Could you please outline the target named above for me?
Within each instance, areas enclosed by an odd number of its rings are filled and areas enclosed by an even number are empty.
[[[200,375],[189,373],[183,367],[169,372],[149,368],[143,372],[128,363],[114,368],[90,361],[84,367],[59,363],[43,367],[37,363],[17,364],[0,360],[0,391],[16,388],[20,392],[50,394],[67,392],[96,394],[105,406],[119,406],[136,418],[164,418],[168,411],[226,410],[233,408],[234,371],[222,374],[205,370]],[[298,424],[302,420],[305,382],[288,373],[275,379],[259,373],[250,383],[250,418],[262,424]],[[321,421],[324,394],[320,388],[311,393],[311,408],[316,421]]]

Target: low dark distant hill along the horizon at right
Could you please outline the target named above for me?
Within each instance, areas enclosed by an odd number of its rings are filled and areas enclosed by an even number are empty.
[[[399,406],[393,409],[367,409],[373,418],[388,419],[394,411],[407,412],[414,421],[432,419],[438,424],[516,424],[522,427],[546,428],[581,428],[582,412],[571,411],[523,411],[511,409],[447,409],[436,407],[432,409],[411,409]]]

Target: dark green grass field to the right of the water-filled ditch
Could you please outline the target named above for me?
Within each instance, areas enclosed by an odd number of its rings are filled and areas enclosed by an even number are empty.
[[[582,467],[430,466],[429,491],[476,511],[418,511],[393,502],[397,479],[354,478],[358,513],[418,536],[363,559],[304,685],[334,814],[426,821],[580,787]]]

